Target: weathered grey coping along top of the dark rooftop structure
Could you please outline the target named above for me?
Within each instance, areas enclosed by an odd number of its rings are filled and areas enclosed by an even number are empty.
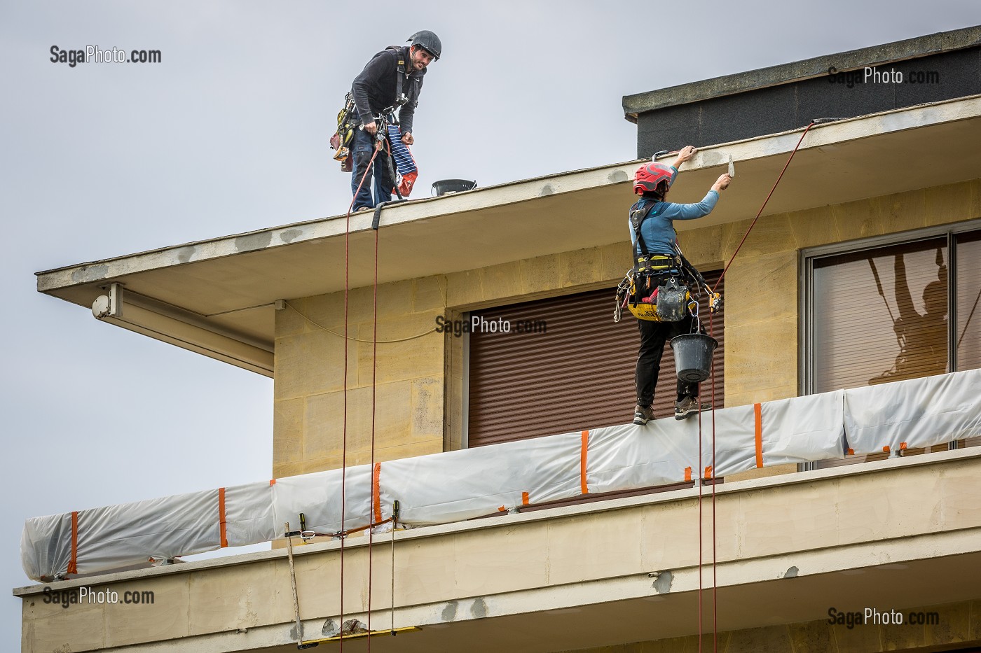
[[[839,72],[846,72],[977,45],[981,45],[981,25],[770,66],[748,73],[702,79],[679,86],[625,95],[624,117],[631,123],[637,123],[638,115],[647,111],[828,75],[828,69],[832,66]]]

